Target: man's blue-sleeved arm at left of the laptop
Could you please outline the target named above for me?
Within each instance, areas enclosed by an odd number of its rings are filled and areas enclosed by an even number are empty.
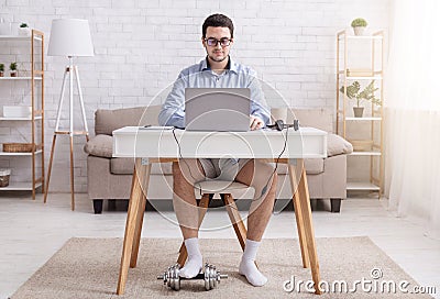
[[[185,82],[180,73],[158,114],[160,125],[185,126]]]

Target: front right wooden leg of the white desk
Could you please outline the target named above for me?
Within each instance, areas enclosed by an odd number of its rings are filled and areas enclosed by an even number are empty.
[[[315,283],[315,294],[320,295],[321,290],[319,289],[319,281],[321,280],[321,278],[319,274],[318,254],[316,248],[315,231],[311,219],[309,188],[307,186],[307,176],[306,176],[306,168],[304,167],[304,159],[297,160],[297,167],[300,167],[301,169],[301,178],[299,180],[299,186],[298,186],[299,202],[300,202],[299,206],[302,212],[304,232],[305,232],[305,237],[307,240],[307,251],[310,259],[311,277]]]

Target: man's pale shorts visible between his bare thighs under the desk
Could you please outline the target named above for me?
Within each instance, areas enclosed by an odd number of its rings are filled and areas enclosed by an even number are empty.
[[[199,158],[207,178],[227,181],[235,180],[240,169],[249,160],[249,158]]]

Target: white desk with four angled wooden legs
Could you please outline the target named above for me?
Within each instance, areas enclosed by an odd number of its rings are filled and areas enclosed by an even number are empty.
[[[113,131],[113,157],[135,158],[117,294],[124,292],[129,266],[136,266],[152,163],[180,157],[273,160],[279,155],[280,163],[288,164],[302,266],[311,266],[312,279],[317,286],[320,280],[319,263],[302,159],[327,157],[327,132],[312,128],[300,128],[299,131],[289,129],[286,142],[286,131],[210,133],[138,126]],[[316,294],[320,294],[320,290],[317,289]]]

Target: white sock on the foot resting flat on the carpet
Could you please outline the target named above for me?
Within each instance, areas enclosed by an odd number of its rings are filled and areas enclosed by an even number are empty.
[[[239,273],[244,275],[254,287],[261,287],[267,283],[267,278],[255,266],[256,251],[260,244],[261,242],[246,239],[243,257],[239,266]]]

